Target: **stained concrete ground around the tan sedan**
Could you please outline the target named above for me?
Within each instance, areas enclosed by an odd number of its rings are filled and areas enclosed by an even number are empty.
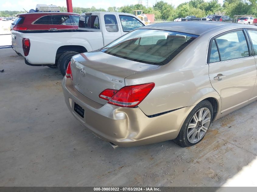
[[[257,186],[257,103],[204,140],[113,149],[71,115],[57,69],[0,49],[0,186]],[[255,176],[254,176],[255,175]]]

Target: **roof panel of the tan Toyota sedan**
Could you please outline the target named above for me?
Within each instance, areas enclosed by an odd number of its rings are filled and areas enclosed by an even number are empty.
[[[223,26],[231,26],[231,29],[235,26],[239,26],[237,23],[228,22],[209,22],[209,21],[189,21],[189,22],[164,22],[152,25],[146,25],[140,29],[158,29],[166,31],[175,31],[181,33],[188,33],[193,35],[201,35],[212,29],[216,29]]]

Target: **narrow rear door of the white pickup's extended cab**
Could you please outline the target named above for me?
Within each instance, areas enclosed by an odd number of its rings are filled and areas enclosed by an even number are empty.
[[[103,45],[112,42],[114,39],[117,39],[122,35],[116,14],[105,14],[102,22],[104,22],[104,25],[102,25],[104,26],[104,29],[102,29]]]

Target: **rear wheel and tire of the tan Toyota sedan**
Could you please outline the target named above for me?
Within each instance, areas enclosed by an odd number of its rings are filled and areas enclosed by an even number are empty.
[[[213,119],[213,106],[208,100],[198,103],[186,117],[179,135],[174,140],[181,147],[199,143],[207,133]]]

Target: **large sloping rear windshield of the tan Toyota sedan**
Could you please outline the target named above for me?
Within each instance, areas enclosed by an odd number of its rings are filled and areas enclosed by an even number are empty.
[[[153,65],[165,65],[182,51],[197,35],[137,29],[101,49],[109,55]]]

